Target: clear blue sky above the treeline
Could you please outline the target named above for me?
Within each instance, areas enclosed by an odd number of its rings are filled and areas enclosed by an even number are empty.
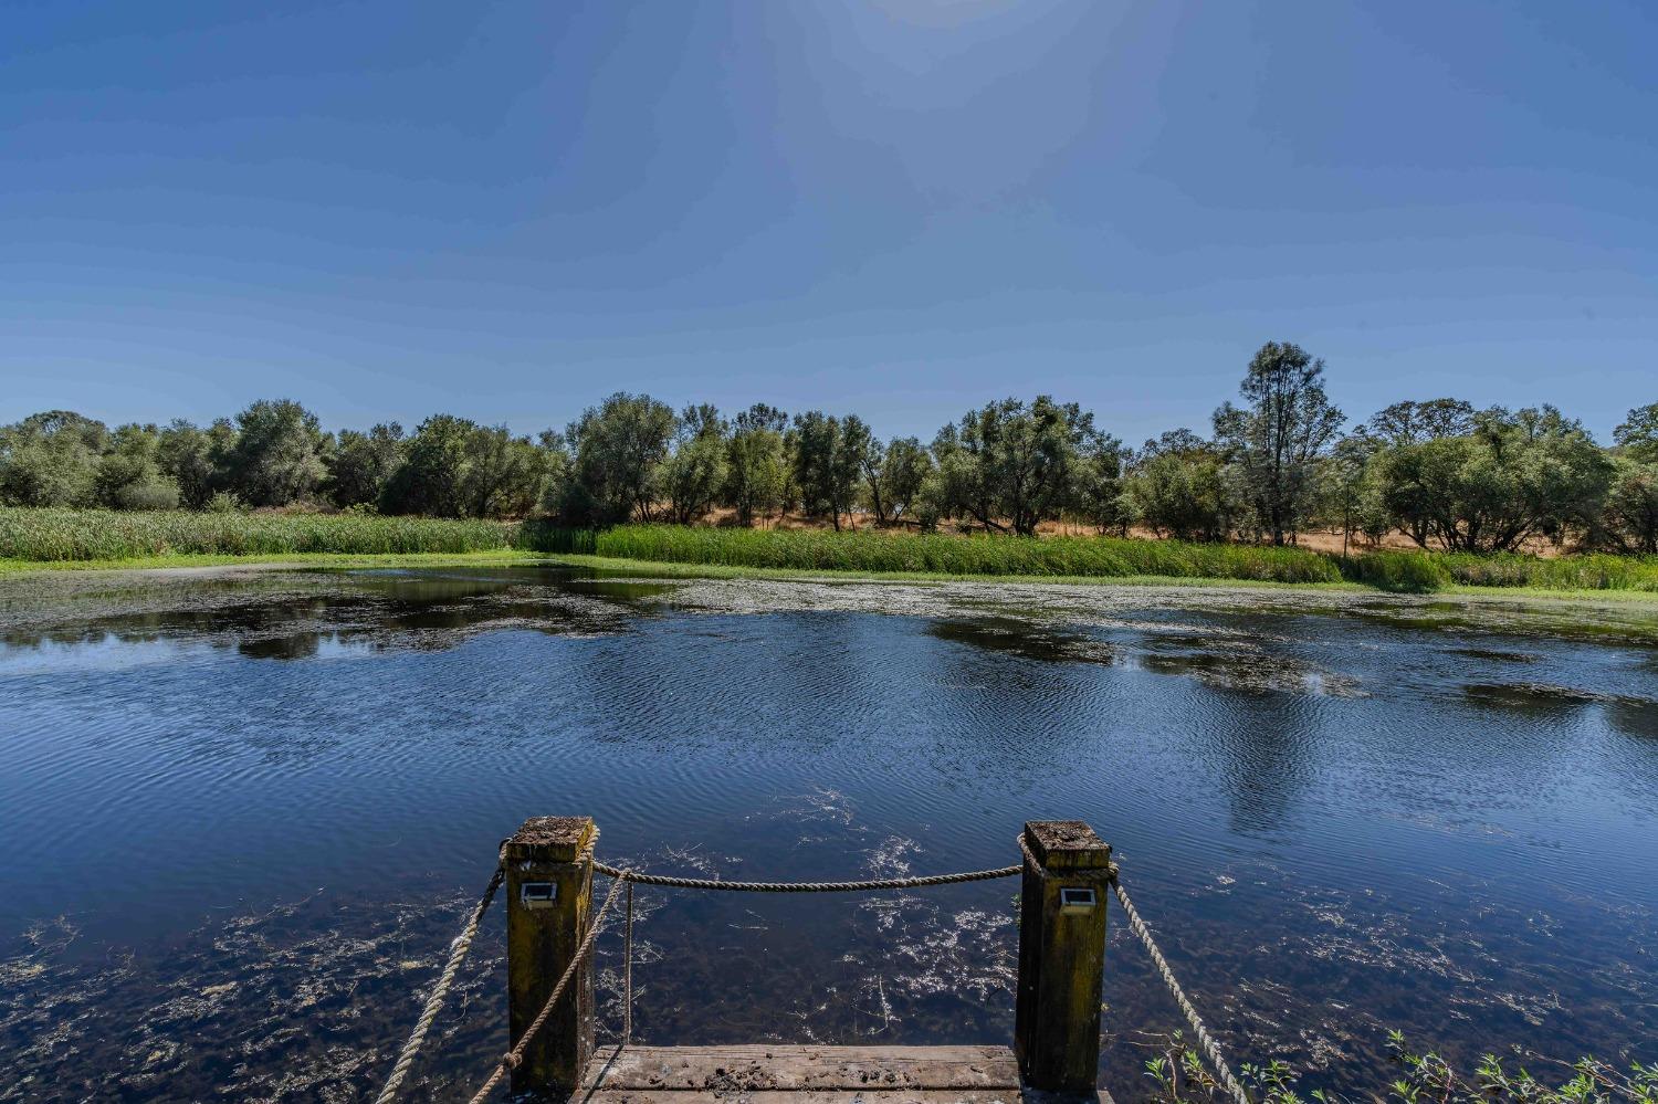
[[[1658,5],[0,0],[0,419],[1658,401]]]

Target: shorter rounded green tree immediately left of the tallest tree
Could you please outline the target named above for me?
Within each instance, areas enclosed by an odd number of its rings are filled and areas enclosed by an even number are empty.
[[[1124,514],[1161,537],[1224,540],[1232,499],[1220,453],[1190,429],[1147,441],[1122,477]]]

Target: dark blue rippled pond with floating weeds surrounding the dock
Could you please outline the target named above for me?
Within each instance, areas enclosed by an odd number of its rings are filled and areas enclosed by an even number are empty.
[[[356,1099],[497,842],[660,872],[1008,865],[1091,822],[1229,1049],[1379,1091],[1658,1059],[1658,608],[638,580],[0,583],[0,1101]],[[642,1043],[1011,1038],[1015,882],[638,892]],[[499,905],[408,1099],[504,1049]],[[620,1024],[600,940],[600,1036]],[[1177,1011],[1121,915],[1103,1082]],[[1525,1063],[1545,1073],[1547,1061]]]

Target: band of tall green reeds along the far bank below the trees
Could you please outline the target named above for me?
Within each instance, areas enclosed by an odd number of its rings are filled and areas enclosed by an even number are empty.
[[[332,562],[342,557],[592,555],[720,570],[856,572],[912,579],[1161,579],[1361,583],[1429,593],[1456,587],[1658,593],[1658,557],[1365,552],[1117,537],[919,535],[899,532],[618,525],[592,532],[541,521],[491,522],[361,514],[189,514],[0,509],[0,570],[10,564],[164,567]],[[385,560],[381,560],[385,562]]]

